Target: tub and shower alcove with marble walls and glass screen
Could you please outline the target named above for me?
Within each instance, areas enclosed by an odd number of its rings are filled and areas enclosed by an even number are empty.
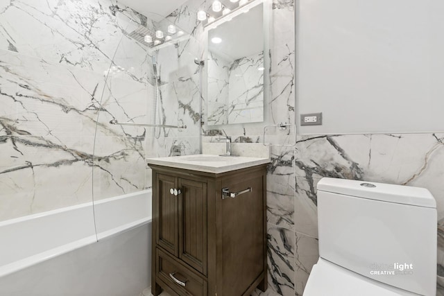
[[[137,296],[144,159],[200,152],[198,41],[116,1],[3,2],[0,295]]]

